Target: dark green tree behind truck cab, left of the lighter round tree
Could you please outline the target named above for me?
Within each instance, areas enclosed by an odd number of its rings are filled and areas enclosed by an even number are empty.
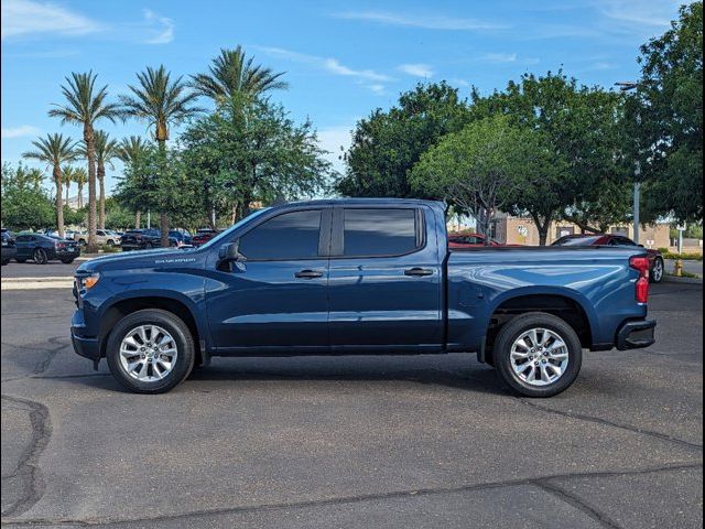
[[[469,122],[467,105],[445,82],[417,85],[390,110],[358,121],[345,154],[347,170],[337,182],[346,196],[419,196],[409,172],[440,139]]]

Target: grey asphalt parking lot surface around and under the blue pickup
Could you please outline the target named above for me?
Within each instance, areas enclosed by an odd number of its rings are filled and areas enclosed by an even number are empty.
[[[655,345],[530,400],[459,354],[216,358],[132,395],[73,353],[61,284],[2,291],[3,526],[703,523],[702,285],[653,287]]]

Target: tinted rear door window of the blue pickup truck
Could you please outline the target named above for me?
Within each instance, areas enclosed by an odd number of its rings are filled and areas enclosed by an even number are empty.
[[[419,213],[416,208],[344,209],[343,256],[400,256],[421,248]]]

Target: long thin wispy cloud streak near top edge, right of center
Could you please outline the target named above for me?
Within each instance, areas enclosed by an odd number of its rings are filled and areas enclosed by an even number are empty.
[[[425,30],[453,30],[453,31],[476,31],[476,30],[502,30],[508,26],[485,22],[477,19],[459,19],[456,17],[436,15],[413,15],[408,13],[392,13],[388,11],[348,11],[334,14],[338,19],[364,20],[377,22],[384,25],[401,25],[408,28],[421,28]]]

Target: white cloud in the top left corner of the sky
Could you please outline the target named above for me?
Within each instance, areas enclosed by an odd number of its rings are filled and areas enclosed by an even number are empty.
[[[32,0],[3,0],[2,40],[37,34],[85,35],[105,26],[61,6]]]

